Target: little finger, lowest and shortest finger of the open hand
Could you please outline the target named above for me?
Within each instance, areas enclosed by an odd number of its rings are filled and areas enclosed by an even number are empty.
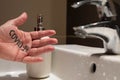
[[[32,62],[41,62],[43,61],[42,57],[32,57],[32,56],[27,56],[23,59],[22,62],[24,63],[32,63]]]

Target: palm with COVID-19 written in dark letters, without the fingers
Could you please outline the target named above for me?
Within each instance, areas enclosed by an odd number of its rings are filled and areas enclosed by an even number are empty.
[[[8,22],[6,24],[8,24]],[[6,24],[4,24],[2,26],[5,26]],[[1,29],[0,36],[1,36],[0,43],[1,43],[2,48],[4,48],[4,49],[2,49],[2,50],[4,50],[4,51],[2,51],[2,54],[5,54],[4,56],[6,59],[9,59],[9,57],[10,57],[10,58],[12,58],[12,60],[15,60],[15,57],[17,55],[20,55],[20,54],[18,54],[19,51],[21,51],[23,53],[23,54],[22,53],[21,54],[23,56],[25,56],[25,54],[26,54],[25,52],[27,52],[28,48],[31,48],[32,40],[31,40],[30,34],[27,32],[18,30],[17,27],[14,25],[10,25],[8,27],[3,27]],[[23,43],[24,43],[24,45],[23,45]],[[26,49],[24,46],[26,47]],[[8,56],[8,58],[7,58],[7,56]]]

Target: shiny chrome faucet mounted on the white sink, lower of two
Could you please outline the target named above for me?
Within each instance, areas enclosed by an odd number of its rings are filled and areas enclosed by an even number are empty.
[[[75,35],[80,38],[98,38],[103,41],[106,52],[120,54],[120,28],[111,21],[102,21],[73,27]],[[116,28],[115,28],[116,27]]]

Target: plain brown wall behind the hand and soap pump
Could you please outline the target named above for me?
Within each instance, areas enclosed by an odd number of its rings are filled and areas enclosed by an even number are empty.
[[[22,12],[28,13],[28,20],[20,29],[32,31],[37,15],[43,14],[46,29],[55,29],[54,37],[58,38],[59,44],[65,43],[66,0],[0,0],[0,25]]]

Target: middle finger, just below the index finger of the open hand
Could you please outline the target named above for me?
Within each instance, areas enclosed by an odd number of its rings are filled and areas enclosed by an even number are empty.
[[[56,44],[56,43],[58,43],[56,38],[34,40],[32,42],[32,48],[42,47],[42,46],[45,46],[45,45]]]

